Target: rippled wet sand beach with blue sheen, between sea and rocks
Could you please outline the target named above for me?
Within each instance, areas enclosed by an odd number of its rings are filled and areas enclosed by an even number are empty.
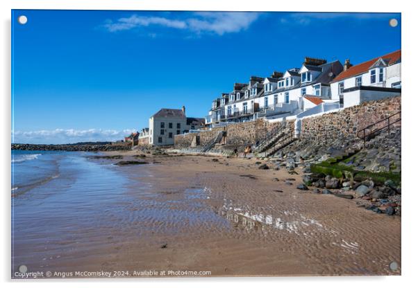
[[[107,152],[124,156],[80,161],[85,167],[80,176],[60,180],[65,185],[59,192],[51,181],[28,192],[30,202],[15,199],[12,267],[23,263],[30,271],[67,277],[79,277],[74,271],[121,277],[147,276],[145,271],[165,271],[165,276],[401,273],[389,269],[390,262],[401,263],[400,217],[298,190],[302,173],[259,170],[256,159],[134,157],[137,153]],[[112,165],[122,160],[149,164]],[[295,179],[292,186],[285,183],[288,178]],[[91,180],[97,182],[94,190]]]

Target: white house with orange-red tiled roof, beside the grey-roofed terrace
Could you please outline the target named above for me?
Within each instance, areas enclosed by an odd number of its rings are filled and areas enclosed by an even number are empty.
[[[344,108],[401,95],[401,50],[355,66],[346,60],[344,71],[331,82],[331,92]]]

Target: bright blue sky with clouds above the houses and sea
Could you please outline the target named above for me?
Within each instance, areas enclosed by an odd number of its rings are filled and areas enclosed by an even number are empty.
[[[399,13],[15,10],[13,141],[117,140],[163,107],[203,117],[234,82],[305,56],[356,64],[395,51],[400,24]]]

